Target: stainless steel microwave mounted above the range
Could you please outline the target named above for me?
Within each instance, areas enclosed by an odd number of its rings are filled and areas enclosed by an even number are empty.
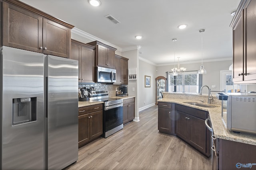
[[[116,70],[112,68],[96,67],[97,82],[114,83],[116,82]]]

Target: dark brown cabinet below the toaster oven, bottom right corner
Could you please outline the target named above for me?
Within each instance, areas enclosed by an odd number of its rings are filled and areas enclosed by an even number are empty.
[[[212,170],[256,170],[256,145],[216,139]]]

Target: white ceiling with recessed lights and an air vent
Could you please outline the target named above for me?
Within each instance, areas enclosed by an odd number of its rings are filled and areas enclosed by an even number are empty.
[[[232,58],[232,28],[229,27],[240,0],[21,0],[76,28],[116,45],[120,49],[141,46],[140,58],[155,65],[200,61],[203,33],[204,61]],[[114,24],[105,16],[112,15]],[[186,29],[178,29],[185,23]],[[136,35],[142,35],[140,40]],[[185,61],[185,62],[184,62]],[[177,58],[176,58],[177,62]]]

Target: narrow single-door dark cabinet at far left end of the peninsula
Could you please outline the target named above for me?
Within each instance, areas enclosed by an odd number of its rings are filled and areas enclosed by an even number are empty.
[[[174,104],[158,102],[158,130],[161,133],[174,133]]]

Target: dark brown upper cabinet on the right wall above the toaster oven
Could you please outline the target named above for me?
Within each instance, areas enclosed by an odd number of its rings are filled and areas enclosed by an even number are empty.
[[[233,81],[256,83],[256,1],[242,0],[233,28]]]

